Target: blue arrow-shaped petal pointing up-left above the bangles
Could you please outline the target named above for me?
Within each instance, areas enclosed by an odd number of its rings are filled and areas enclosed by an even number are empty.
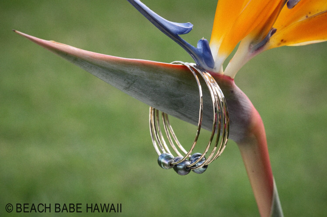
[[[183,40],[179,35],[189,33],[193,25],[191,23],[174,23],[168,21],[150,8],[146,7],[139,0],[127,0],[131,5],[133,5],[143,16],[146,17],[153,25],[155,25],[160,31],[162,31],[169,38],[178,43],[186,52],[191,55],[195,62],[204,69],[212,70],[214,68],[214,59],[211,54],[209,47],[209,42],[206,39],[201,39],[198,41],[198,46],[195,48],[185,40]]]

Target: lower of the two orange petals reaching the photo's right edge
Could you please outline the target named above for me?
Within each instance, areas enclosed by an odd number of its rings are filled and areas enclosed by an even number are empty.
[[[299,46],[327,41],[327,10],[295,22],[270,38],[266,49],[284,45]]]

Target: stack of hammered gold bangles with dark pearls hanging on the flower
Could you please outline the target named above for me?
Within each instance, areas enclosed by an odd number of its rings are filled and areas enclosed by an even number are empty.
[[[168,115],[164,112],[161,112],[162,121],[163,121],[163,128],[166,134],[166,137],[168,139],[168,142],[174,152],[176,153],[176,157],[172,154],[170,151],[167,143],[164,140],[163,133],[160,128],[160,119],[159,119],[159,113],[160,111],[150,107],[150,113],[149,113],[149,123],[150,123],[150,134],[151,139],[154,145],[154,148],[156,152],[159,155],[158,158],[158,164],[163,169],[171,169],[174,168],[174,170],[179,175],[187,175],[192,170],[193,172],[197,174],[203,173],[207,167],[208,164],[211,163],[213,160],[217,159],[221,153],[224,151],[227,140],[228,140],[228,134],[229,134],[229,116],[228,116],[228,110],[226,105],[226,100],[224,97],[224,94],[222,93],[221,89],[219,88],[218,84],[216,83],[215,79],[205,70],[203,70],[201,67],[194,63],[184,63],[181,61],[175,61],[172,62],[174,64],[180,64],[185,65],[194,75],[199,89],[199,96],[200,96],[200,108],[199,108],[199,119],[198,119],[198,129],[197,134],[195,136],[194,142],[190,148],[190,150],[187,152],[181,143],[178,141],[173,128],[169,124]],[[201,129],[201,123],[202,123],[202,114],[203,114],[203,97],[202,97],[202,89],[201,84],[198,78],[198,75],[201,75],[201,77],[204,79],[213,103],[213,127],[212,127],[212,133],[211,137],[209,139],[209,143],[206,146],[204,152],[201,153],[194,153],[192,154],[193,149],[195,148],[195,145],[198,141],[198,137],[200,134]],[[222,128],[222,129],[221,129]],[[215,144],[212,148],[212,151],[209,152],[210,155],[206,158],[205,155],[209,151],[211,144],[215,137],[215,132],[217,132]],[[221,135],[221,140],[219,142]],[[175,145],[177,144],[177,147]],[[183,154],[181,154],[181,152]],[[187,159],[188,158],[188,159]]]

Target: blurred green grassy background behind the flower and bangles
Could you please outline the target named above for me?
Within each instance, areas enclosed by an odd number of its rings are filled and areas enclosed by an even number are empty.
[[[193,23],[188,42],[210,39],[216,1],[143,2]],[[122,203],[112,216],[259,216],[234,142],[202,175],[163,170],[147,105],[11,31],[119,57],[192,61],[127,1],[4,0],[0,26],[0,216],[17,216],[7,203]],[[327,216],[326,71],[320,43],[264,52],[235,78],[264,121],[285,216]],[[181,142],[193,140],[194,126],[172,122]]]

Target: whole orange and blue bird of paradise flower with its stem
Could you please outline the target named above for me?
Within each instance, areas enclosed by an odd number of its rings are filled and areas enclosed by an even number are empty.
[[[210,44],[200,39],[194,47],[179,36],[190,32],[192,24],[167,21],[142,2],[128,1],[215,77],[229,107],[230,138],[241,151],[260,215],[283,216],[262,119],[233,78],[246,62],[265,50],[327,41],[327,2],[219,0]],[[184,66],[97,54],[15,32],[140,101],[181,120],[197,123],[198,90]],[[238,43],[235,55],[223,69],[222,64]],[[163,97],[158,97],[159,94]],[[208,97],[208,93],[204,95]],[[210,129],[210,106],[205,108],[208,109],[204,110],[203,126]]]

